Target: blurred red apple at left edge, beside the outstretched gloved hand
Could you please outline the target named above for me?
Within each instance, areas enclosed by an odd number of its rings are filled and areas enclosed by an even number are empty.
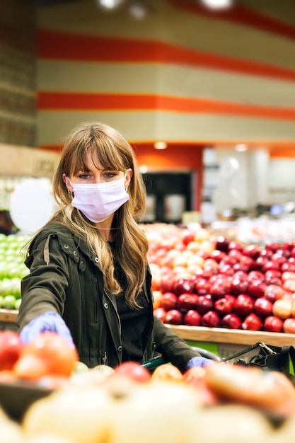
[[[0,370],[10,371],[21,355],[24,345],[18,333],[0,330]]]

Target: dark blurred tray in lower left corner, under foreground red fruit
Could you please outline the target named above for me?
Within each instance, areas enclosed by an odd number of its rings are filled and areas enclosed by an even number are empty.
[[[34,401],[48,396],[52,391],[25,381],[0,382],[0,405],[10,418],[19,422]]]

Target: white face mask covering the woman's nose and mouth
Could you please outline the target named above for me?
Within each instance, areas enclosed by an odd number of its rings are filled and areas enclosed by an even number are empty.
[[[71,205],[80,209],[91,222],[103,222],[129,200],[124,185],[125,177],[107,183],[71,183],[74,188]]]

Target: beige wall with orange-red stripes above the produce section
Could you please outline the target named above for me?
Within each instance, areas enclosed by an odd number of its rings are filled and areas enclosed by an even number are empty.
[[[275,1],[266,11],[248,0],[222,13],[192,1],[154,1],[158,15],[139,24],[103,18],[93,6],[86,14],[79,3],[39,14],[37,58],[46,74],[37,91],[40,146],[60,149],[76,123],[103,120],[127,134],[150,170],[197,171],[196,210],[204,146],[295,151],[295,22],[277,16]],[[168,149],[156,151],[158,139]]]

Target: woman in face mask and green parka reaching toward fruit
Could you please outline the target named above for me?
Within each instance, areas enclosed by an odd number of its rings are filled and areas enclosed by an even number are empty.
[[[59,209],[34,236],[18,326],[24,343],[53,330],[88,367],[163,355],[182,372],[212,363],[153,315],[146,190],[132,147],[107,125],[69,134],[53,180]],[[188,363],[190,362],[190,363]]]

